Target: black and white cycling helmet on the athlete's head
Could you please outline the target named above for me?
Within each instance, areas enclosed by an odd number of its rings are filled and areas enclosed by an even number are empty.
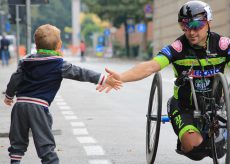
[[[202,1],[189,1],[185,3],[179,13],[178,13],[178,22],[185,21],[211,21],[212,10],[210,6]]]

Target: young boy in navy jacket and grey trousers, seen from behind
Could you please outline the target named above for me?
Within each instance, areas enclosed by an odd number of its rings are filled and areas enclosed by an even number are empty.
[[[5,104],[11,105],[14,96],[17,97],[11,113],[9,134],[11,146],[8,151],[12,164],[20,163],[27,150],[29,129],[41,162],[59,163],[54,152],[49,106],[63,78],[109,85],[114,89],[121,86],[120,81],[111,77],[64,61],[59,52],[62,46],[60,33],[57,27],[49,24],[38,27],[34,34],[37,54],[31,54],[20,62],[7,85]]]

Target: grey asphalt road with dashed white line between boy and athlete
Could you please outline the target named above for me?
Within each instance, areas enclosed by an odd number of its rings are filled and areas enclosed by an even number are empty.
[[[123,72],[137,61],[67,58],[73,64],[103,72],[105,67]],[[13,70],[0,69],[1,90]],[[165,68],[163,77],[163,113],[167,100],[173,93],[173,72]],[[4,79],[2,77],[5,77]],[[60,163],[63,164],[146,164],[145,126],[148,97],[152,77],[126,83],[120,91],[98,93],[94,84],[63,80],[60,91],[51,105],[54,133]],[[0,96],[2,102],[3,96]],[[7,132],[10,108],[0,103],[0,133]],[[23,164],[40,163],[30,138]],[[0,164],[9,163],[7,138],[0,138]],[[176,135],[170,123],[162,125],[157,152],[157,164],[210,164],[206,158],[194,162],[175,152]]]

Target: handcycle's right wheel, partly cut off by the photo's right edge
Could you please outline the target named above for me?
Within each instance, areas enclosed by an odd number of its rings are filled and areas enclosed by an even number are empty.
[[[218,133],[211,133],[212,157],[214,164],[230,163],[230,99],[226,77],[218,73],[214,77],[212,96],[215,98]],[[220,140],[218,142],[218,140]],[[220,150],[221,148],[221,150]]]

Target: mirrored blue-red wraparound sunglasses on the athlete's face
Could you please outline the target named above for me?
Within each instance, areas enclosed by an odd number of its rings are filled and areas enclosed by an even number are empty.
[[[180,26],[183,31],[189,31],[189,30],[198,31],[202,29],[206,24],[207,24],[207,21],[204,21],[204,20],[189,21],[187,19],[184,19],[180,22]]]

